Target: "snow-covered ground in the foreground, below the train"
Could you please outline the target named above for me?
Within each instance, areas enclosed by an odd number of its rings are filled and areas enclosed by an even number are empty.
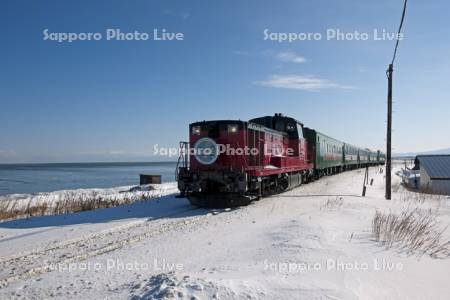
[[[378,168],[360,197],[363,178],[325,177],[233,210],[167,195],[3,222],[0,298],[448,299],[450,259],[385,249],[371,222],[414,205],[445,227],[450,199],[395,185],[386,201]]]

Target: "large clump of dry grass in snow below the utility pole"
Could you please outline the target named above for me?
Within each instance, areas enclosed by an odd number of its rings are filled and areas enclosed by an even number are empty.
[[[386,248],[398,247],[418,256],[434,258],[450,256],[450,241],[443,240],[447,229],[436,220],[436,210],[407,208],[401,213],[377,211],[372,221],[375,240]]]

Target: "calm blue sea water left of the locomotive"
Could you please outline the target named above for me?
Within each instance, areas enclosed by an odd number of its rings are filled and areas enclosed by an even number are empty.
[[[138,185],[139,174],[175,180],[175,162],[0,164],[0,195]]]

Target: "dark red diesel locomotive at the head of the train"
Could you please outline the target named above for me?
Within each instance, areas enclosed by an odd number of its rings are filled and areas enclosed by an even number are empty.
[[[233,206],[306,181],[313,160],[303,125],[281,115],[269,118],[190,124],[180,191],[199,206]]]

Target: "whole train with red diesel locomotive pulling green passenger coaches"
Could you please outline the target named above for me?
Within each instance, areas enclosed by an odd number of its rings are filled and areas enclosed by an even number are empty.
[[[382,165],[381,151],[360,148],[275,114],[189,125],[180,142],[180,196],[200,207],[247,205],[260,197],[346,170]]]

